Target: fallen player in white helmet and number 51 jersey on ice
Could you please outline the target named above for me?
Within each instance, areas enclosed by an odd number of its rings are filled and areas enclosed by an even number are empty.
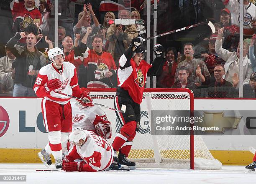
[[[113,162],[113,147],[92,131],[77,128],[69,134],[74,145],[63,159],[62,170],[67,172],[97,172],[108,169]],[[81,159],[81,162],[74,162]]]

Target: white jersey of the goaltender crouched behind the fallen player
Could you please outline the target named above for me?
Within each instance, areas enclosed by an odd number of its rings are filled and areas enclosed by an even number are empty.
[[[71,107],[72,131],[76,128],[82,128],[95,132],[95,125],[101,121],[101,118],[108,120],[105,112],[97,105],[79,109],[76,102],[71,102]]]

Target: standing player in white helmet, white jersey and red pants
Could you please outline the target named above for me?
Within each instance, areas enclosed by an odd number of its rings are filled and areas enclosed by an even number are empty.
[[[55,47],[49,50],[48,55],[52,63],[40,69],[34,85],[36,95],[43,98],[42,114],[46,131],[49,132],[49,143],[38,156],[49,167],[50,154],[53,154],[56,169],[61,169],[62,147],[72,132],[72,110],[70,97],[58,92],[78,97],[81,104],[86,106],[92,105],[92,99],[87,92],[81,92],[77,84],[76,68],[72,63],[64,62],[63,51]]]

